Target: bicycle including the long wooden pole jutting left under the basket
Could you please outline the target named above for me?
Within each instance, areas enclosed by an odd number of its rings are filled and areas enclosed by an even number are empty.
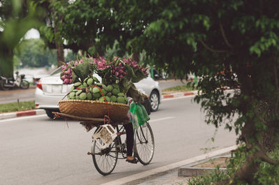
[[[86,131],[90,131],[93,127],[96,127],[96,131],[100,128],[101,125],[106,124],[107,120],[98,119],[98,118],[86,118],[86,117],[77,117],[70,114],[63,114],[61,112],[52,112],[54,117],[70,117],[72,119],[77,119],[85,128]],[[108,121],[109,122],[109,121]],[[113,142],[104,149],[101,149],[105,143],[98,138],[98,146],[96,140],[91,142],[91,152],[88,152],[88,155],[92,156],[93,164],[95,165],[96,170],[101,175],[110,175],[114,170],[118,159],[125,159],[127,157],[126,151],[126,142],[123,142],[123,137],[125,135],[125,128],[121,124],[123,123],[111,123],[116,127],[117,136]],[[93,136],[92,136],[93,137]],[[149,121],[146,121],[145,124],[134,129],[134,146],[133,152],[134,157],[142,163],[142,165],[148,165],[154,154],[155,143],[154,136]],[[120,155],[119,155],[120,154]]]

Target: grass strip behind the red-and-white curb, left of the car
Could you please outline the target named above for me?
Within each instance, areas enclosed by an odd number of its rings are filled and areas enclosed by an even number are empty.
[[[35,109],[35,101],[20,101],[18,105],[16,102],[0,104],[0,112],[15,112],[32,109]]]

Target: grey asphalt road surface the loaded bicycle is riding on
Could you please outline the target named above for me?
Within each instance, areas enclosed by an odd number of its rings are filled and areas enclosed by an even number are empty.
[[[112,175],[103,177],[87,156],[91,133],[77,121],[51,121],[45,115],[0,121],[1,185],[93,185],[204,154],[201,149],[235,145],[236,136],[204,123],[199,105],[190,97],[163,101],[151,113],[156,150],[150,165],[119,160]]]

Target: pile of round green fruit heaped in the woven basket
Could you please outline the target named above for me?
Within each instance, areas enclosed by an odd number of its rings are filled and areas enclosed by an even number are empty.
[[[67,97],[69,100],[127,103],[127,97],[120,92],[119,84],[101,84],[96,77],[86,77],[83,83],[75,82]]]

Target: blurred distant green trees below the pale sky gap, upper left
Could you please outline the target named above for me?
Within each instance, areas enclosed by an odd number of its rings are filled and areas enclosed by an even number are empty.
[[[15,57],[22,66],[43,67],[56,64],[56,52],[45,47],[44,41],[39,38],[22,40],[16,47]]]

